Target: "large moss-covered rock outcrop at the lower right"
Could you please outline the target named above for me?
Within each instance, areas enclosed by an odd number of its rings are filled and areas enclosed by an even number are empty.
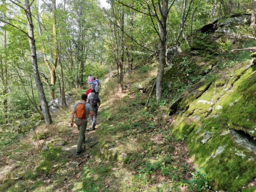
[[[256,176],[253,65],[247,61],[220,73],[218,80],[195,86],[180,101],[180,112],[170,125],[177,139],[186,139],[190,155],[205,168],[213,190],[239,191]]]

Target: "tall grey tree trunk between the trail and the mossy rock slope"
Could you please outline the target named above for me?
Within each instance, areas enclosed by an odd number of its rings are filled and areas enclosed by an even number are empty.
[[[164,77],[164,68],[165,68],[165,43],[167,35],[167,16],[168,16],[168,0],[162,0],[161,6],[161,19],[158,21],[160,40],[159,40],[159,59],[158,59],[158,70],[156,76],[156,99],[160,100],[162,97],[162,85],[161,82]]]

